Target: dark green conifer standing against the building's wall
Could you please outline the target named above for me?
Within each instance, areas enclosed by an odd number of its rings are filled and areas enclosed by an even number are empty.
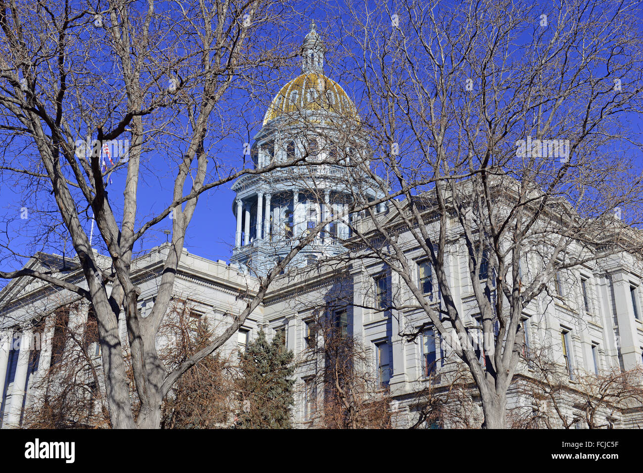
[[[279,337],[268,342],[260,330],[257,339],[240,353],[242,378],[239,394],[242,412],[237,427],[244,429],[288,429],[294,404],[293,352]]]

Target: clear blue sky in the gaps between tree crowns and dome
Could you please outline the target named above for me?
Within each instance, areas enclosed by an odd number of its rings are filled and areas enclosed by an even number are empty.
[[[338,22],[333,19],[331,11],[326,10],[308,10],[300,17],[298,24],[290,26],[288,30],[281,31],[284,33],[284,39],[291,42],[294,46],[301,44],[303,36],[308,31],[308,26],[311,18],[318,22],[320,31],[327,31],[329,28],[337,27]],[[340,82],[345,88],[349,96],[355,99],[358,109],[361,107],[361,100],[359,97],[362,91],[359,89],[358,84],[344,82],[342,75],[334,75],[334,51],[332,48],[327,53],[327,67],[326,71],[331,78]],[[339,67],[339,69],[342,69]],[[216,145],[216,155],[228,163],[230,166],[240,165],[242,163],[242,149],[245,141],[248,140],[248,134],[254,136],[259,130],[264,112],[266,111],[267,103],[271,100],[278,89],[284,85],[287,78],[293,78],[300,73],[298,60],[291,60],[291,62],[282,68],[280,73],[280,80],[268,84],[268,89],[262,98],[251,98],[247,94],[244,96],[235,97],[227,104],[228,107],[234,107],[235,104],[242,104],[246,107],[247,112],[245,119],[248,122],[247,129],[237,130],[237,133],[229,138],[223,139]],[[221,116],[225,120],[224,115]],[[213,117],[213,129],[217,125],[217,117]],[[632,115],[628,126],[631,130],[635,140],[642,141],[643,136],[643,121],[640,115]],[[643,157],[636,150],[629,153],[633,159],[638,161],[640,168],[643,168]],[[153,215],[154,213],[165,208],[171,195],[172,185],[174,183],[174,173],[168,167],[167,156],[163,156],[163,150],[158,150],[158,159],[151,156],[149,159],[150,172],[141,179],[139,184],[139,219]],[[118,201],[122,195],[123,179],[125,171],[120,170],[112,176],[113,183],[109,184],[107,188],[111,193],[114,208],[118,208]],[[231,183],[210,190],[204,193],[199,198],[199,204],[194,213],[194,217],[186,233],[185,247],[190,253],[199,254],[205,258],[212,260],[226,260],[230,259],[232,246],[235,238],[235,217],[232,213],[232,202],[235,197],[234,193],[230,190]],[[0,213],[4,215],[19,215],[20,209],[23,207],[24,199],[21,197],[21,190],[12,186],[12,183],[4,182],[0,185]],[[116,212],[119,215],[118,211]],[[170,220],[166,219],[165,222],[158,224],[154,229],[149,232],[149,236],[141,242],[141,245],[136,247],[137,251],[146,250],[154,245],[165,242],[166,235],[163,234],[164,229],[170,229]],[[87,232],[89,233],[90,222],[85,221]],[[0,231],[3,229],[0,229]],[[37,229],[33,229],[37,231]],[[26,241],[24,237],[28,236],[29,223],[24,220],[15,220],[10,228],[9,234],[12,238],[16,237],[17,241]],[[21,236],[22,235],[22,236]],[[5,242],[6,237],[0,237],[2,242]],[[55,238],[54,238],[55,240]],[[95,242],[97,238],[95,237]],[[62,253],[62,244],[51,244],[48,249],[52,253]],[[71,252],[71,245],[67,245],[68,252]],[[25,249],[26,250],[26,249]],[[25,251],[26,253],[26,251]],[[70,254],[70,253],[68,253]],[[5,260],[8,256],[5,250],[0,249],[0,269],[12,270],[18,269],[19,265],[15,260]],[[24,259],[23,259],[24,261]]]

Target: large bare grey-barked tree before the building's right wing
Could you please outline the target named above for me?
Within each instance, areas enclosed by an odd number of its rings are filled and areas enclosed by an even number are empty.
[[[502,428],[525,310],[537,310],[557,272],[642,248],[626,225],[641,222],[643,196],[628,123],[643,91],[639,4],[395,8],[349,3],[337,41],[346,59],[336,63],[363,87],[361,125],[390,209],[352,223],[343,258],[395,275],[404,297],[388,309],[399,334],[430,326],[449,340],[480,393],[484,427]],[[416,277],[422,260],[431,293]],[[449,269],[460,264],[467,305]],[[420,328],[400,316],[413,308],[426,314]]]

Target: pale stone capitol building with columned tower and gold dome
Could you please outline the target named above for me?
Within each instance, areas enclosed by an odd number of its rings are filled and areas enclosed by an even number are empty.
[[[299,165],[247,174],[233,184],[236,198],[231,202],[231,211],[236,218],[236,231],[230,262],[208,260],[184,250],[174,284],[175,297],[189,301],[194,315],[221,333],[244,310],[248,298],[257,293],[262,278],[303,238],[310,237],[221,351],[244,350],[259,330],[264,330],[269,339],[278,337],[298,361],[293,425],[315,427],[326,390],[315,377],[319,360],[308,353],[321,343],[316,340],[321,335],[314,329],[315,323],[320,316],[327,317],[363,348],[359,369],[372,373],[375,388],[371,395],[386,398],[392,427],[408,428],[419,422],[421,427],[461,427],[459,420],[448,415],[421,421],[427,405],[422,397],[453,392],[449,388],[462,363],[455,359],[448,343],[433,334],[426,312],[406,302],[412,298],[399,276],[381,260],[369,256],[368,248],[356,244],[354,232],[367,233],[374,217],[363,211],[350,211],[355,195],[365,202],[376,202],[374,214],[385,225],[395,225],[396,210],[384,199],[385,182],[368,172],[372,155],[368,139],[359,132],[360,117],[354,102],[340,84],[324,75],[324,46],[314,24],[303,41],[301,57],[302,73],[276,94],[251,146],[257,169],[293,160]],[[321,231],[314,231],[328,220],[331,223]],[[437,231],[437,227],[429,231]],[[404,233],[399,238],[404,239]],[[413,277],[431,294],[431,303],[440,307],[437,281],[422,260],[422,249],[412,246],[412,238],[406,240]],[[478,312],[466,251],[457,238],[449,245],[444,258],[449,281],[455,287],[455,304],[474,324]],[[344,256],[349,249],[357,257]],[[141,288],[138,301],[143,315],[154,305],[168,251],[169,245],[162,244],[132,262],[134,280]],[[64,261],[60,256],[38,256],[26,268],[62,270]],[[109,258],[98,254],[96,258],[109,268]],[[529,258],[536,255],[527,256],[525,268],[536,267]],[[542,391],[538,396],[526,387],[529,383],[522,387],[518,383],[509,389],[508,415],[523,418],[556,407],[565,419],[574,421],[574,427],[587,427],[579,382],[583,373],[628,371],[643,365],[640,263],[640,256],[620,253],[579,265],[561,274],[550,290],[530,303],[523,314],[525,353],[546,346],[550,361],[567,373],[565,388],[556,394],[556,403],[547,398],[542,383],[538,384]],[[83,284],[80,268],[67,271],[65,277]],[[33,314],[51,314],[61,298],[73,301],[71,293],[54,290],[26,276],[10,281],[0,292],[3,428],[21,425],[25,409],[38,398],[38,380],[68,349],[51,343],[55,328],[48,319],[38,329],[42,333],[39,348],[28,344],[17,348],[12,340],[17,334],[33,339],[37,330],[32,323]],[[77,302],[69,314],[70,326],[82,326],[91,317],[89,304]],[[120,323],[126,344],[123,319]],[[418,328],[422,333],[413,339],[403,335]],[[33,350],[39,350],[38,357],[33,356]],[[98,366],[98,346],[91,350]],[[525,356],[516,379],[538,377],[536,371]],[[468,386],[463,391],[466,401],[457,400],[460,410],[466,411],[469,425],[479,427],[482,409],[475,386],[466,382],[458,386]],[[597,415],[601,416],[601,425],[643,426],[640,406],[602,409]],[[553,427],[565,427],[567,421],[560,420],[560,416],[552,415]]]

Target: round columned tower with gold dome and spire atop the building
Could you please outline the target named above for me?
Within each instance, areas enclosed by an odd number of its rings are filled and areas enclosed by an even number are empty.
[[[312,22],[300,52],[302,74],[273,98],[250,150],[257,168],[297,164],[243,175],[232,186],[237,229],[231,262],[242,271],[267,274],[311,233],[289,268],[343,253],[358,218],[350,212],[354,196],[372,201],[382,195],[379,183],[360,171],[370,147],[358,132],[355,104],[323,73],[324,49]]]

